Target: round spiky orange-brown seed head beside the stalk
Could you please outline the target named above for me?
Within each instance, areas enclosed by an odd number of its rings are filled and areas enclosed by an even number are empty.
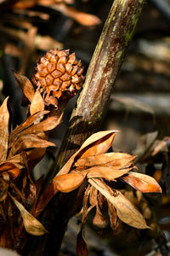
[[[50,49],[36,69],[32,81],[48,104],[57,105],[58,100],[75,96],[82,87],[82,62],[69,49]]]

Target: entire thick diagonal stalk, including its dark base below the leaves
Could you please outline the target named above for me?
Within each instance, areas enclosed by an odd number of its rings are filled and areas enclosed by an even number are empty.
[[[58,172],[77,148],[99,130],[111,90],[122,65],[128,44],[139,20],[144,0],[115,0],[88,67],[83,90],[73,110],[69,129],[60,149],[57,165],[48,181]],[[47,236],[35,239],[29,255],[56,255],[71,215],[76,192],[57,195],[43,214]]]

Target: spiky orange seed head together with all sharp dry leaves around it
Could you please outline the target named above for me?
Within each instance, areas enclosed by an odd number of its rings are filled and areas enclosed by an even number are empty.
[[[142,193],[160,193],[161,187],[153,177],[133,172],[135,156],[107,153],[117,131],[99,131],[88,137],[45,189],[42,177],[37,181],[32,178],[32,170],[46,148],[54,147],[48,142],[48,131],[60,124],[66,103],[82,87],[82,71],[74,54],[52,49],[37,64],[32,82],[14,72],[24,93],[27,117],[11,131],[8,98],[4,100],[0,108],[1,247],[20,251],[26,232],[33,236],[48,232],[37,220],[40,212],[58,192],[75,189],[79,189],[76,204],[82,204],[77,255],[88,255],[84,224],[92,208],[96,212],[93,222],[99,228],[105,228],[108,218],[115,233],[120,221],[138,229],[150,228],[133,203],[116,189],[116,183],[128,183]]]

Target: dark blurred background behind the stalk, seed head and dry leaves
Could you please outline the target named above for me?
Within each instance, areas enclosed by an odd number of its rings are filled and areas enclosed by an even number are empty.
[[[86,73],[112,3],[113,0],[0,0],[0,102],[10,96],[14,127],[26,118],[26,109],[21,107],[22,92],[12,70],[31,78],[39,58],[48,49],[59,48],[75,52]],[[62,125],[51,133],[57,148],[76,100],[77,97],[71,99]],[[143,172],[148,168],[163,184],[163,200],[153,210],[157,211],[155,221],[163,235],[153,237],[148,231],[125,225],[122,233],[113,236],[109,228],[94,231],[89,219],[89,255],[170,255],[169,126],[170,0],[148,0],[101,129],[119,130],[113,149],[139,154]],[[57,148],[48,151],[36,168],[35,178],[47,172]],[[149,154],[153,151],[154,160]],[[71,219],[59,256],[76,255],[78,229],[77,218]]]

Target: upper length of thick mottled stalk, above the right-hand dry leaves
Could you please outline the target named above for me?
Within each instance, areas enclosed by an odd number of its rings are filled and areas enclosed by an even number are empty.
[[[114,1],[88,67],[77,108],[71,114],[70,126],[60,148],[57,165],[53,166],[49,180],[54,177],[59,166],[94,131],[99,130],[143,4],[144,0]]]

